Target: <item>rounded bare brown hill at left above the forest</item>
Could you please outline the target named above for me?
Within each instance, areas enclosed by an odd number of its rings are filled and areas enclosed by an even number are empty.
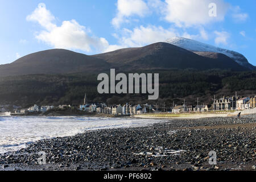
[[[50,49],[0,65],[0,76],[77,73],[110,68],[103,60],[65,49]]]

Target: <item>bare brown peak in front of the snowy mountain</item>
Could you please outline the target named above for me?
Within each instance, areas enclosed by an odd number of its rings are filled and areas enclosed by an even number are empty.
[[[200,56],[194,52],[168,43],[154,43],[140,48],[126,48],[117,51],[94,55],[121,70],[133,69],[233,69],[246,71],[228,56],[218,54],[217,57]]]

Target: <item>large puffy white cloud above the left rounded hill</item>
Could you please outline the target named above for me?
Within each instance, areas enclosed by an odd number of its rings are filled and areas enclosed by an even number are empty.
[[[80,49],[90,52],[92,49],[105,51],[109,49],[109,43],[105,38],[89,35],[89,28],[81,26],[76,20],[63,21],[57,26],[53,21],[55,16],[46,9],[44,3],[40,3],[35,11],[27,16],[28,21],[38,22],[45,30],[36,35],[36,39],[55,48]]]

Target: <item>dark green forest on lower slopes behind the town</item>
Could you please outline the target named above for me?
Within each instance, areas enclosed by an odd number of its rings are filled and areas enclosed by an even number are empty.
[[[240,96],[256,94],[255,71],[174,69],[150,73],[159,73],[159,100],[156,101],[148,101],[147,94],[98,94],[97,73],[76,73],[1,77],[0,105],[79,105],[86,93],[88,102],[106,102],[110,105],[162,105],[165,102],[168,107],[173,101],[175,104],[181,104],[184,100],[187,104],[195,104],[197,97],[201,104],[212,104],[214,94],[216,97],[234,96],[236,91]]]

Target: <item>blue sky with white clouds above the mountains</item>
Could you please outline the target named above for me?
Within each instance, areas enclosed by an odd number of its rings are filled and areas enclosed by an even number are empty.
[[[93,55],[183,36],[256,65],[255,7],[255,0],[0,0],[0,64],[51,48]]]

